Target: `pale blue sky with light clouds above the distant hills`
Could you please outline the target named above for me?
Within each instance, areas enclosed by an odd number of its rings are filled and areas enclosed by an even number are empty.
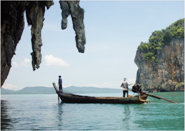
[[[46,86],[63,79],[63,86],[120,88],[123,78],[135,83],[137,47],[152,32],[184,18],[184,1],[80,1],[85,10],[85,53],[76,48],[71,16],[61,30],[58,1],[45,11],[42,29],[42,63],[31,66],[31,27],[25,29],[12,59],[12,68],[2,86],[20,90]]]

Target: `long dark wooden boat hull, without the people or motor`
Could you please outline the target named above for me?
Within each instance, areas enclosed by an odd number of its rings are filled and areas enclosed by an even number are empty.
[[[142,104],[147,95],[134,97],[91,97],[71,93],[58,93],[63,103],[107,103],[107,104]]]

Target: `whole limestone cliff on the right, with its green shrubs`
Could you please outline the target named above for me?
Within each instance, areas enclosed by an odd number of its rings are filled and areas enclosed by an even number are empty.
[[[153,32],[149,42],[141,42],[135,63],[139,68],[136,83],[144,90],[180,90],[180,83],[183,88],[184,19]]]

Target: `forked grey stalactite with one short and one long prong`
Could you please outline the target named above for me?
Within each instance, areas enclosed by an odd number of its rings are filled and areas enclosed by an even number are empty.
[[[71,14],[73,21],[73,29],[75,30],[76,36],[76,47],[79,52],[85,50],[85,26],[83,23],[84,9],[80,8],[79,1],[60,1],[60,8],[62,9],[62,22],[61,28],[67,28],[67,17]]]

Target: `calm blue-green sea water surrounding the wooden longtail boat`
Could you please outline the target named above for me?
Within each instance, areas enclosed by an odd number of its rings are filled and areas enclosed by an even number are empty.
[[[62,104],[52,95],[2,95],[7,130],[184,130],[184,93],[153,93],[147,104]],[[86,94],[87,95],[87,94]],[[91,94],[92,95],[92,94]],[[93,94],[95,95],[95,94]],[[122,94],[96,94],[121,96]]]

